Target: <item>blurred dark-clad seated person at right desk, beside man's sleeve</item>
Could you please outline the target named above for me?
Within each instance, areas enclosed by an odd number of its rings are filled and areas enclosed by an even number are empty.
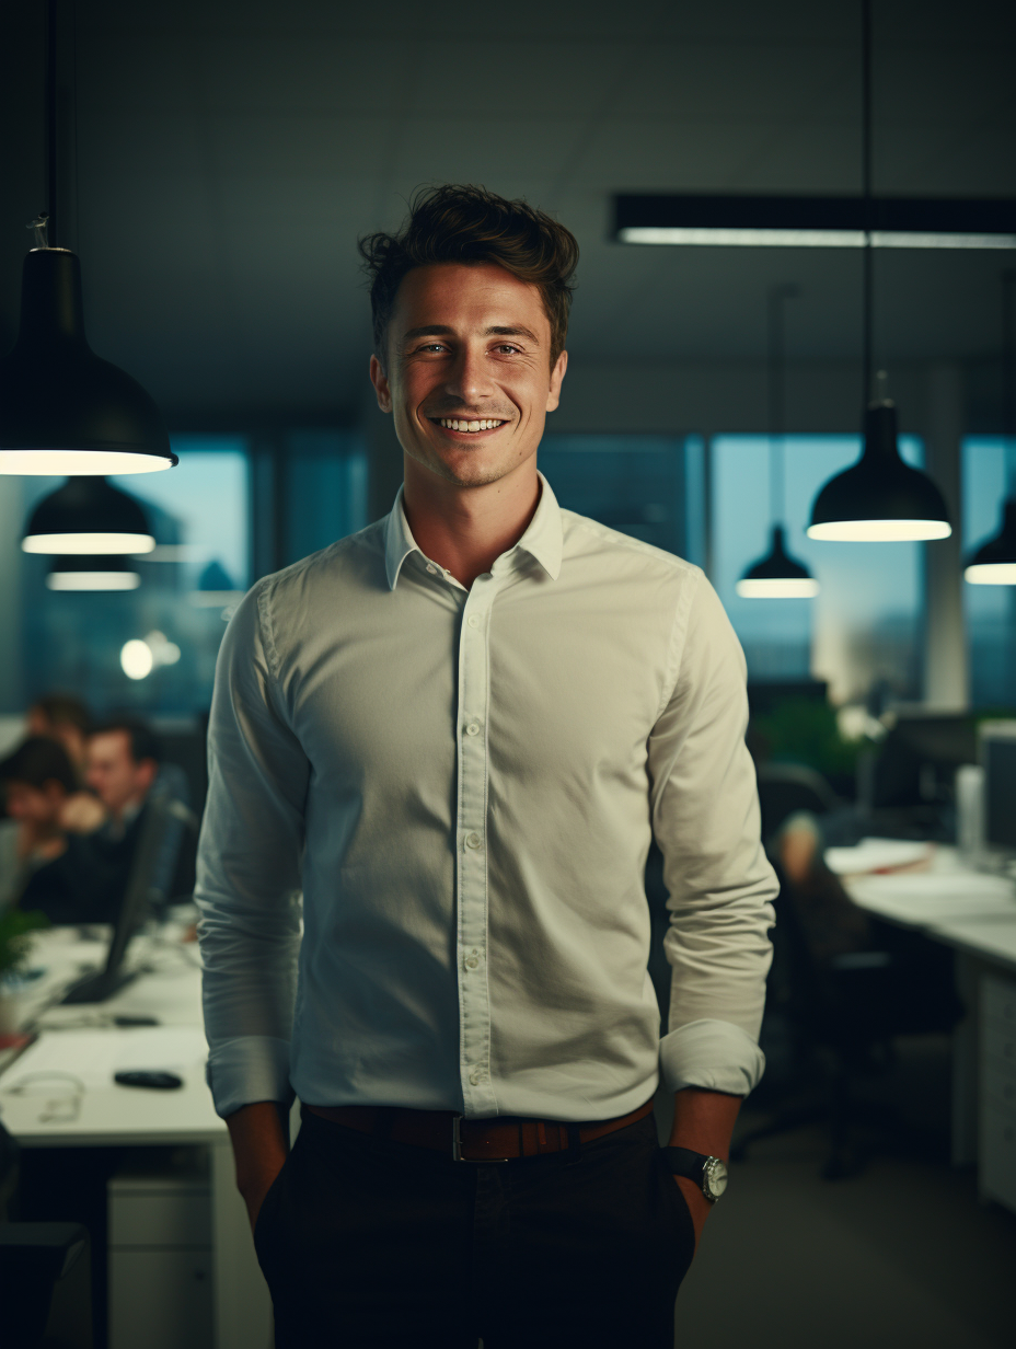
[[[882,952],[888,959],[878,1016],[886,1035],[951,1031],[965,1010],[955,992],[951,950],[854,904],[826,866],[824,823],[799,811],[768,844],[781,873],[781,894],[795,907],[816,967],[832,969],[842,956]],[[835,815],[830,827],[837,832]]]

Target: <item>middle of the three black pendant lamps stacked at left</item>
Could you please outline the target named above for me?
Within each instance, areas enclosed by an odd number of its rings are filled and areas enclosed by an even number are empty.
[[[31,514],[26,553],[150,553],[155,538],[144,511],[105,478],[69,478]]]

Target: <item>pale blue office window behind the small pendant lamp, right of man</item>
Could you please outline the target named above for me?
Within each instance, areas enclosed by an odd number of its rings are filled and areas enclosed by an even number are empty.
[[[923,445],[900,438],[904,459],[923,461]],[[711,579],[745,648],[749,679],[828,680],[843,703],[878,685],[897,699],[919,696],[922,557],[919,544],[830,544],[810,540],[811,503],[822,484],[847,468],[859,436],[787,436],[785,525],[792,556],[822,591],[814,600],[741,599],[735,584],[769,550],[769,438],[716,436],[711,456]]]

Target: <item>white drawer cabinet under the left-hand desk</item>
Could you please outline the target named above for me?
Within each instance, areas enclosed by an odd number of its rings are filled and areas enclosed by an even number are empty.
[[[138,1148],[108,1187],[109,1349],[212,1349],[212,1198],[204,1148]]]

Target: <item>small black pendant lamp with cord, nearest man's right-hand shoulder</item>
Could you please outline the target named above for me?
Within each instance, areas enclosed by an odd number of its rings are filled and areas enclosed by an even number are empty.
[[[807,567],[787,552],[784,511],[784,341],[783,305],[796,295],[795,286],[774,286],[769,293],[769,495],[773,530],[769,552],[753,563],[737,583],[742,599],[814,599],[819,583]]]

